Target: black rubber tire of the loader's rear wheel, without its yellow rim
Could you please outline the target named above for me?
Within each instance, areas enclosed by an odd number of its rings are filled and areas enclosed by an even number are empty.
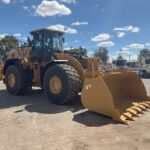
[[[13,73],[16,79],[16,83],[13,88],[8,84],[8,75],[10,73]],[[28,82],[26,81],[26,72],[20,66],[11,65],[7,68],[5,84],[7,91],[12,95],[26,94],[29,89]]]

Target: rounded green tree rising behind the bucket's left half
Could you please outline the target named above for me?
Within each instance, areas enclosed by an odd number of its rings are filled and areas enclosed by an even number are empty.
[[[105,65],[109,59],[107,47],[99,47],[94,53],[94,57],[99,58],[100,61],[102,61],[102,63]]]

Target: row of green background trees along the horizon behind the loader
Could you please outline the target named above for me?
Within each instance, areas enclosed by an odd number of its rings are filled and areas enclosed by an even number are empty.
[[[22,46],[28,46],[28,43],[25,42],[22,44]],[[0,39],[0,60],[7,53],[9,53],[14,49],[17,49],[18,47],[19,47],[19,40],[14,36],[6,35],[4,38]],[[87,56],[88,53],[87,49],[82,46],[80,46],[79,48],[70,48],[70,50],[82,56]],[[107,64],[109,59],[108,49],[106,47],[99,47],[95,50],[92,57],[99,58],[102,64]],[[141,61],[143,57],[144,58],[150,57],[150,50],[142,49],[138,56],[139,61]],[[119,55],[118,59],[123,58],[121,55]]]

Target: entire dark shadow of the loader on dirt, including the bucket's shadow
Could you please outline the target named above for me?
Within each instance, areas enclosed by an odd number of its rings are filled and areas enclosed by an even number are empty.
[[[73,113],[79,110],[84,110],[80,98],[73,101],[73,103],[60,106],[50,103],[41,90],[33,90],[25,96],[13,96],[6,90],[0,90],[0,109],[6,109],[16,106],[25,105],[24,109],[17,110],[14,113],[20,113],[24,110],[28,112],[37,112],[43,114],[56,114],[66,111]],[[85,109],[85,112],[77,113],[73,117],[73,121],[84,124],[86,126],[103,126],[107,124],[117,124],[111,118],[99,115]]]

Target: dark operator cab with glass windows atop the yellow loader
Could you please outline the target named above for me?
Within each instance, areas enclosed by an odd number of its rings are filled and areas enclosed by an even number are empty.
[[[54,53],[62,52],[63,32],[44,28],[30,33],[33,40],[28,42],[32,46],[30,55],[33,61],[48,61]]]

